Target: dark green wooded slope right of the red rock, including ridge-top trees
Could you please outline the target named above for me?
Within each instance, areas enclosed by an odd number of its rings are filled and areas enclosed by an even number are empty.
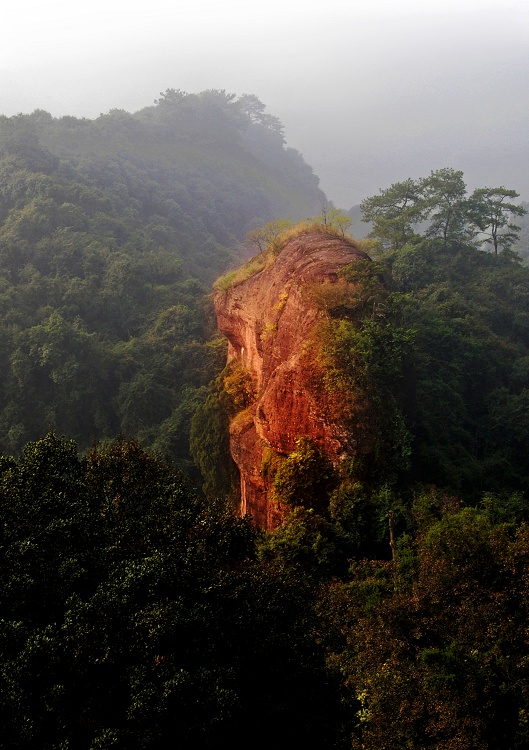
[[[400,202],[390,202],[392,186],[365,207],[397,224],[408,221],[409,205],[427,208],[422,223],[410,219],[405,232],[395,225],[389,239],[374,226],[390,248],[383,256],[390,299],[401,325],[414,332],[405,397],[413,427],[409,478],[474,502],[483,491],[526,493],[528,279],[509,253],[514,235],[507,226],[524,209],[505,188],[467,197],[462,174],[453,170],[414,184],[411,203],[404,205],[411,188],[403,183]],[[493,255],[479,251],[485,240]]]

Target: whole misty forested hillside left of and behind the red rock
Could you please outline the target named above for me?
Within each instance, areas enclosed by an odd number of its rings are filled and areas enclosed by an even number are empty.
[[[223,359],[210,284],[246,232],[324,196],[253,95],[169,90],[135,114],[0,118],[0,447],[118,433],[190,467]]]

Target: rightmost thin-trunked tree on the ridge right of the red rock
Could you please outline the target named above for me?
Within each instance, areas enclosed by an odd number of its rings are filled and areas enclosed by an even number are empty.
[[[510,223],[512,216],[525,216],[523,206],[508,202],[518,198],[515,190],[498,188],[477,188],[470,196],[470,213],[479,231],[485,235],[484,242],[492,245],[494,255],[498,250],[508,250],[516,242],[520,227]]]

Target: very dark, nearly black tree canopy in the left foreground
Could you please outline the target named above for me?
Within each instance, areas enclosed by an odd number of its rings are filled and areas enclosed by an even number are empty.
[[[47,435],[2,459],[0,530],[6,747],[242,748],[263,712],[266,744],[335,746],[309,587],[159,457]]]

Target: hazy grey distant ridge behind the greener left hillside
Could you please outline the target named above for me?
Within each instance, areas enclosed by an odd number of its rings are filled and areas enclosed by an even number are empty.
[[[171,89],[135,114],[111,110],[89,120],[36,110],[0,117],[0,150],[36,171],[46,158],[49,171],[59,157],[71,177],[112,193],[118,212],[132,212],[143,223],[155,218],[196,274],[182,242],[182,234],[190,240],[184,226],[190,220],[195,235],[205,231],[230,246],[256,225],[311,216],[326,203],[318,178],[285,146],[280,121],[264,110],[253,95]],[[218,275],[222,265],[211,260]],[[207,264],[200,265],[199,275],[212,280]]]

